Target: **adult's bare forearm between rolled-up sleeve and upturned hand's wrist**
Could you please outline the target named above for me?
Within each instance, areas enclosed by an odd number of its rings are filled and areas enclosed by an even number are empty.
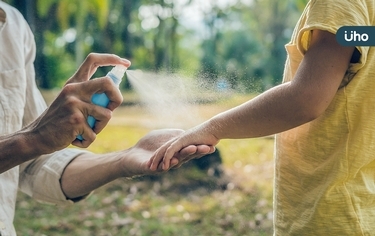
[[[67,198],[84,196],[123,175],[119,153],[85,153],[65,168],[61,187]]]

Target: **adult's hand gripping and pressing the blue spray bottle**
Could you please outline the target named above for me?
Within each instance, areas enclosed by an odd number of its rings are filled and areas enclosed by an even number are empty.
[[[41,154],[70,144],[88,147],[95,140],[96,134],[111,118],[112,111],[121,104],[122,95],[110,78],[90,78],[98,67],[115,65],[129,67],[130,62],[113,54],[89,54],[50,107],[27,127],[29,140]],[[107,108],[91,103],[95,93],[106,93],[110,99]],[[87,124],[89,115],[97,120],[94,129]],[[76,140],[78,134],[83,136],[83,141]]]

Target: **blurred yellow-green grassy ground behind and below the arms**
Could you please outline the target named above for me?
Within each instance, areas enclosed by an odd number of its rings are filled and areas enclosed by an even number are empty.
[[[196,105],[201,114],[196,123],[247,99],[236,95],[225,102]],[[161,128],[154,119],[141,106],[121,107],[89,149],[103,153],[128,148],[150,130]],[[271,235],[273,139],[222,140],[218,148],[224,170],[220,178],[188,164],[154,178],[116,180],[69,206],[40,204],[20,193],[17,233]]]

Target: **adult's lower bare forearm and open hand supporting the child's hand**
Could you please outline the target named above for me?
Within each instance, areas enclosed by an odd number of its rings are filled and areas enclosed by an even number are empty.
[[[155,174],[147,162],[161,145],[181,134],[182,130],[165,129],[148,133],[138,143],[127,150],[109,154],[82,154],[75,158],[63,172],[61,186],[65,195],[74,199],[121,177]],[[171,160],[171,166],[179,166],[184,161],[214,152],[214,147],[191,145],[182,149]]]

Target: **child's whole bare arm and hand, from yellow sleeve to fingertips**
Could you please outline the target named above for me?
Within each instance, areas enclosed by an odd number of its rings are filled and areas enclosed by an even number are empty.
[[[356,52],[354,47],[339,45],[334,34],[314,30],[292,81],[187,130],[159,148],[148,166],[170,168],[172,157],[189,145],[215,146],[221,139],[272,135],[316,119],[335,96]]]

